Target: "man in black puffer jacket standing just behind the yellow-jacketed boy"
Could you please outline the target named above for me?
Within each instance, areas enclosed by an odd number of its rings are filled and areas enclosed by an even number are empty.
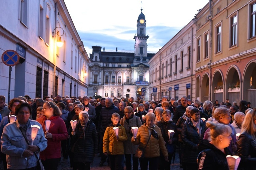
[[[106,130],[106,127],[112,123],[111,117],[113,113],[118,113],[119,108],[117,108],[113,100],[111,98],[106,98],[105,107],[103,107],[100,111],[99,123],[98,123],[98,132],[100,134],[100,154],[101,161],[99,166],[103,166],[104,162],[106,162],[106,156],[103,154],[103,136]]]

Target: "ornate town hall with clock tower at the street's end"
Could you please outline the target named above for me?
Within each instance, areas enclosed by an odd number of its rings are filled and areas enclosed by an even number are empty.
[[[101,51],[99,46],[92,47],[88,96],[149,99],[150,74],[147,62],[155,53],[147,51],[148,35],[146,36],[146,20],[142,9],[134,39],[134,51],[117,48],[113,51],[105,51],[103,48]]]

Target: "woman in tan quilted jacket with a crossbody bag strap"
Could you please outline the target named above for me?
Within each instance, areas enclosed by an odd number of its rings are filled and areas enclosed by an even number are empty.
[[[144,157],[139,158],[141,170],[147,170],[148,162],[150,170],[158,168],[160,150],[165,160],[168,161],[168,152],[165,147],[165,141],[163,140],[160,128],[154,124],[155,119],[155,114],[147,113],[145,117],[146,122],[140,126],[136,138],[131,138],[134,145],[139,145],[139,147],[143,149],[146,146]],[[149,138],[150,140],[148,141]]]

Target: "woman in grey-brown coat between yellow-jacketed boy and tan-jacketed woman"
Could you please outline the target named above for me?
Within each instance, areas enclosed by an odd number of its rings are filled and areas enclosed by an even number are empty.
[[[131,155],[132,155],[132,162],[133,162],[133,170],[138,170],[139,167],[139,160],[138,158],[134,157],[134,154],[138,148],[138,145],[133,145],[131,143],[131,127],[140,127],[142,125],[141,120],[138,116],[133,114],[133,108],[131,106],[127,106],[124,109],[125,116],[120,120],[120,124],[124,126],[127,140],[124,142],[124,152],[125,152],[125,166],[127,170],[131,170]]]

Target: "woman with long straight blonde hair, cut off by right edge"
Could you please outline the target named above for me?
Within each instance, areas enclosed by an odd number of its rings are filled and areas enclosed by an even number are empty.
[[[241,135],[237,140],[237,153],[241,157],[239,169],[256,169],[256,109],[245,115]]]

